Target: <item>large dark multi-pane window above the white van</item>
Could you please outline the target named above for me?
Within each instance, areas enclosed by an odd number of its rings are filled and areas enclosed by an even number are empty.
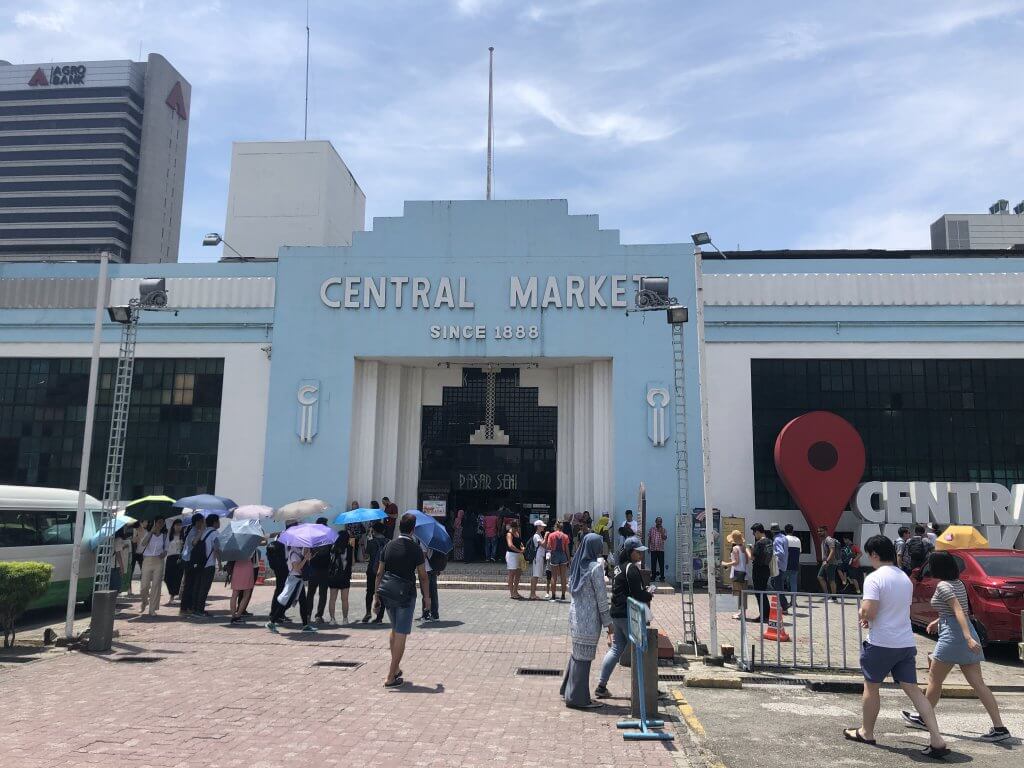
[[[100,364],[89,471],[89,493],[97,498],[115,368],[113,359]],[[84,357],[0,358],[0,483],[78,487],[88,381]],[[222,382],[220,358],[135,361],[123,499],[214,492]],[[63,535],[49,519],[35,529],[39,537]]]

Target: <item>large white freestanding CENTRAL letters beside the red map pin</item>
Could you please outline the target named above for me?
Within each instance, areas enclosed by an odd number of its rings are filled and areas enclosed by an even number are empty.
[[[851,508],[861,520],[860,540],[895,539],[901,525],[973,525],[993,549],[1012,549],[1024,526],[1024,484],[995,482],[861,483]]]

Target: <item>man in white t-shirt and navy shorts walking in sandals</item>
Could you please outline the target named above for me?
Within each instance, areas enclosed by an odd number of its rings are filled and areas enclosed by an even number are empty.
[[[860,625],[867,630],[867,640],[860,652],[860,671],[864,675],[863,720],[859,728],[847,728],[843,735],[851,741],[874,743],[874,723],[882,707],[879,689],[892,675],[918,707],[928,727],[929,745],[923,754],[943,758],[949,754],[949,749],[939,733],[932,706],[918,687],[914,664],[918,646],[910,627],[913,585],[906,573],[896,567],[896,547],[886,537],[868,539],[864,543],[864,554],[874,570],[864,580],[864,599],[860,604]]]

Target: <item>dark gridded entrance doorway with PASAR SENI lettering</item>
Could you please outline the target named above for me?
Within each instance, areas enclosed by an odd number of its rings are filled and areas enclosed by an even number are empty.
[[[537,387],[519,386],[518,369],[464,369],[462,386],[423,408],[421,434],[421,505],[443,502],[451,526],[464,512],[456,559],[483,559],[487,514],[517,518],[524,535],[538,517],[553,518],[558,409],[540,406]]]

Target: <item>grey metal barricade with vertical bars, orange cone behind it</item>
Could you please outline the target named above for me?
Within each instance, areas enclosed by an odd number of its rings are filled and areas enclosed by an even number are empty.
[[[860,625],[860,595],[813,592],[744,590],[753,598],[759,621],[739,612],[739,664],[755,669],[860,669],[864,629]],[[782,598],[787,610],[782,612]],[[765,615],[765,606],[770,606]],[[772,614],[775,621],[772,620]],[[777,622],[777,623],[776,623]],[[767,639],[766,639],[767,635]]]

